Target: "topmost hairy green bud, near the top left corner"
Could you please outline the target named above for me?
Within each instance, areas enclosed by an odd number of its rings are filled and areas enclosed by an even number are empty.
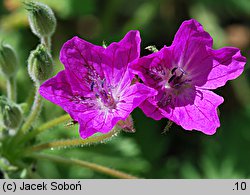
[[[56,28],[56,18],[51,8],[39,2],[25,2],[32,32],[39,38],[50,37]]]

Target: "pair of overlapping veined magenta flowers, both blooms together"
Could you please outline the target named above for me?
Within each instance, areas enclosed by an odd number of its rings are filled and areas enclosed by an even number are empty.
[[[138,31],[107,48],[74,37],[60,53],[65,70],[43,83],[40,94],[80,124],[82,138],[109,132],[138,106],[155,120],[214,134],[223,98],[211,90],[242,73],[239,49],[212,49],[211,36],[194,19],[183,22],[170,47],[139,58],[140,42]],[[132,82],[135,75],[143,83]]]

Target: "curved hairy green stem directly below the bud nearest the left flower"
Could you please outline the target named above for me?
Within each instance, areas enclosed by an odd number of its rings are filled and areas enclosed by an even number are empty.
[[[38,89],[39,89],[39,84],[37,83],[35,100],[32,105],[31,112],[21,128],[21,131],[20,131],[21,133],[26,133],[31,128],[33,122],[36,120],[36,118],[40,114],[40,111],[42,108],[42,97],[40,96]]]

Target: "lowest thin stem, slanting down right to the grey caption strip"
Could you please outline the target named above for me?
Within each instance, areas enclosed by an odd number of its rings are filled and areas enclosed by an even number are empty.
[[[59,157],[59,156],[52,156],[52,155],[47,155],[47,154],[32,154],[30,155],[30,157],[32,158],[36,158],[36,159],[46,159],[46,160],[51,160],[54,162],[58,162],[58,163],[63,163],[63,164],[68,164],[68,165],[77,165],[80,167],[85,167],[85,168],[89,168],[93,171],[99,172],[99,173],[103,173],[112,177],[116,177],[116,178],[120,178],[120,179],[137,179],[137,177],[129,175],[127,173],[123,173],[121,171],[117,171],[102,165],[98,165],[95,163],[91,163],[91,162],[87,162],[87,161],[83,161],[83,160],[78,160],[78,159],[66,159],[63,157]]]

